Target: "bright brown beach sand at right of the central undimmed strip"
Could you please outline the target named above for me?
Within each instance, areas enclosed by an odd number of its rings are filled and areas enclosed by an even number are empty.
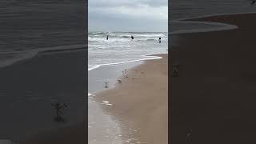
[[[98,102],[113,105],[103,106],[106,113],[126,123],[126,142],[168,143],[168,55],[159,56],[128,70],[114,89],[96,94]]]

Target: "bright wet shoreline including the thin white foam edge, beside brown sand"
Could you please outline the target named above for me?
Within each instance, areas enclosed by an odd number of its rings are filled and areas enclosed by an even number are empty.
[[[117,85],[116,82],[118,78],[122,76],[122,70],[130,70],[134,67],[142,65],[142,63],[150,61],[150,60],[157,60],[162,59],[158,57],[157,54],[153,55],[146,55],[146,57],[143,59],[133,60],[129,62],[120,62],[115,65],[106,65],[106,66],[100,66],[97,69],[94,70],[88,70],[89,72],[89,107],[90,109],[93,107],[93,109],[89,110],[92,114],[92,118],[96,117],[97,119],[91,119],[89,118],[89,126],[90,126],[90,132],[89,132],[89,142],[90,143],[123,143],[121,141],[120,135],[122,135],[121,132],[119,132],[119,128],[122,129],[124,127],[124,124],[122,122],[119,122],[117,118],[113,118],[111,114],[106,114],[106,111],[103,109],[102,106],[111,106],[111,104],[106,102],[98,102],[97,101],[97,94],[101,93],[106,90],[112,90]],[[104,88],[104,82],[108,80],[109,82],[109,88]],[[96,87],[96,88],[95,88]],[[97,88],[98,87],[98,88]],[[96,106],[94,106],[96,105]],[[99,108],[98,108],[99,107]],[[100,111],[98,111],[100,109]],[[98,114],[95,114],[95,112],[98,111]],[[102,114],[103,113],[103,114]],[[94,116],[95,115],[95,116]],[[90,114],[89,114],[90,117]],[[101,118],[101,120],[98,120],[98,118]],[[110,118],[106,118],[110,117]],[[104,120],[104,118],[106,118]],[[92,121],[92,122],[90,122]],[[111,122],[110,122],[111,121]],[[97,125],[94,125],[94,123],[98,123]],[[105,123],[105,125],[102,125],[102,123]],[[111,125],[111,126],[109,126]],[[102,127],[101,127],[102,126]],[[115,127],[116,130],[111,129],[110,127]],[[106,134],[106,130],[111,131],[111,134]],[[98,131],[101,131],[99,134]],[[121,130],[120,130],[121,131]],[[107,138],[106,136],[109,135],[110,138]],[[123,136],[123,135],[122,135]],[[96,140],[94,141],[94,138]],[[98,138],[98,139],[97,139]],[[112,138],[112,139],[111,139]],[[119,142],[117,141],[119,140]],[[124,141],[125,142],[125,141]]]

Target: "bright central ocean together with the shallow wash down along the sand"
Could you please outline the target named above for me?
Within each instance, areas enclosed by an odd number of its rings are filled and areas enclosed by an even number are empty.
[[[108,40],[106,37],[108,35]],[[131,36],[134,39],[131,39]],[[161,38],[161,43],[158,42]],[[102,110],[111,102],[96,102],[95,93],[104,90],[104,82],[114,86],[122,70],[138,66],[143,60],[156,59],[151,54],[167,53],[167,32],[90,32],[88,34],[88,129],[89,143],[121,144],[137,142],[123,136],[126,124]],[[111,87],[110,87],[111,88]],[[130,134],[134,131],[128,128]],[[100,131],[100,133],[99,133]]]

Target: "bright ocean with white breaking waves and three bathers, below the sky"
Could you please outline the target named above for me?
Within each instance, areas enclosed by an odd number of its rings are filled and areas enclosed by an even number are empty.
[[[134,40],[130,38],[131,35],[134,36]],[[161,43],[158,42],[158,38],[161,38]],[[167,48],[167,32],[90,32],[88,70],[99,66],[156,58],[149,55],[166,53]]]

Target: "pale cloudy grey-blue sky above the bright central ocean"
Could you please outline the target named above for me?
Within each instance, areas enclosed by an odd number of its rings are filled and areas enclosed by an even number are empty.
[[[89,0],[89,31],[167,32],[168,0]]]

